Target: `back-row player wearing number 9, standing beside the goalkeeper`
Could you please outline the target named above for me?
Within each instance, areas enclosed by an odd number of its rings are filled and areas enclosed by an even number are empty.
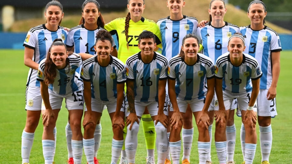
[[[182,8],[186,5],[184,0],[168,0],[166,2],[170,11],[170,16],[159,19],[157,24],[159,26],[162,36],[162,55],[166,56],[169,61],[172,57],[179,54],[179,48],[182,46],[182,38],[189,33],[195,33],[198,25],[198,21],[194,17],[182,15]],[[168,87],[166,85],[166,103],[169,103]],[[168,104],[169,105],[169,104]],[[171,108],[172,109],[172,108]],[[169,117],[172,116],[173,111],[169,111]],[[187,108],[184,115],[184,124],[182,129],[182,143],[183,143],[183,157],[182,160],[187,159],[192,148],[193,142],[193,116],[190,108]],[[170,124],[169,124],[170,126]],[[168,128],[168,137],[170,133],[170,127]],[[167,164],[170,163],[170,156],[166,158]]]

